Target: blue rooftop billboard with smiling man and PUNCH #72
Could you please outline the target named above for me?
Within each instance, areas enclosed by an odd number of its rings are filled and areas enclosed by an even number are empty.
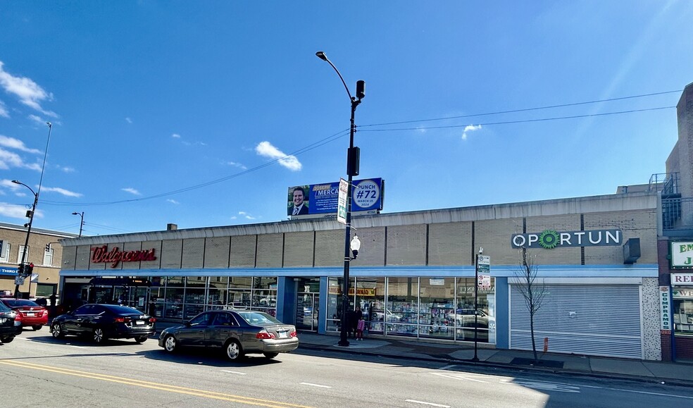
[[[384,180],[367,178],[352,180],[351,211],[380,211]],[[289,187],[287,215],[337,214],[339,182]]]

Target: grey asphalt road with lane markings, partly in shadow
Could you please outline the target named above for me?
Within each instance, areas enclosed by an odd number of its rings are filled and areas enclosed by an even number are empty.
[[[299,335],[300,338],[300,335]],[[240,363],[169,355],[155,339],[0,345],[2,407],[683,407],[693,388],[296,350]]]

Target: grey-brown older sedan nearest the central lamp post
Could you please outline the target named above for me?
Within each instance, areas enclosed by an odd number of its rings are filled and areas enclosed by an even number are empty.
[[[183,326],[163,330],[158,345],[167,352],[180,347],[218,347],[234,361],[245,354],[264,354],[272,359],[296,350],[299,338],[294,326],[261,311],[211,310]]]

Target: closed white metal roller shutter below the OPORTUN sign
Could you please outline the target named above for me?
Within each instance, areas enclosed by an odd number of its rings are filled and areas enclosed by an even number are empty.
[[[639,285],[547,285],[535,314],[537,351],[642,359]],[[510,348],[532,350],[530,314],[511,285]]]

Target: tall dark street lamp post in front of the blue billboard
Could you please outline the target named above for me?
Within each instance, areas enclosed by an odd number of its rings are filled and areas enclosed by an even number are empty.
[[[347,319],[346,314],[349,311],[349,261],[351,261],[351,254],[349,253],[349,241],[351,240],[351,181],[354,175],[358,175],[358,161],[360,150],[358,147],[354,147],[354,132],[356,131],[356,125],[354,125],[354,112],[356,112],[356,106],[361,104],[361,99],[366,97],[366,82],[362,80],[356,81],[356,97],[351,96],[349,92],[349,87],[346,86],[342,74],[332,63],[323,51],[316,52],[316,56],[334,68],[339,79],[342,80],[344,84],[344,89],[346,89],[346,94],[349,95],[349,101],[351,101],[351,125],[349,127],[349,150],[346,151],[346,175],[349,176],[347,180],[348,187],[346,189],[346,233],[344,235],[344,285],[342,288],[342,332],[339,336],[339,345],[342,347],[349,346],[349,340],[346,340],[349,328],[346,327]]]

